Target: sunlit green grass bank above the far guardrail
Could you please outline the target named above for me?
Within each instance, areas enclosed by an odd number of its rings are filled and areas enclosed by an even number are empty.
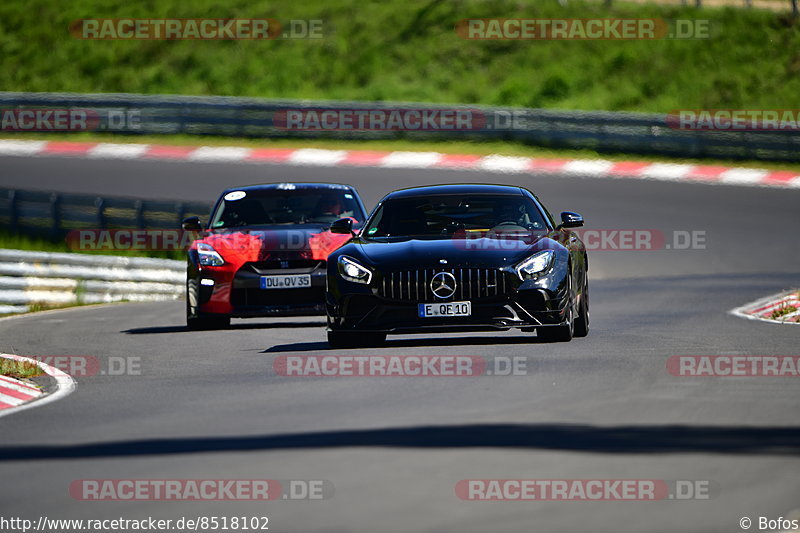
[[[321,19],[325,37],[91,41],[79,18]],[[708,18],[708,40],[468,41],[464,18]],[[0,87],[668,112],[796,108],[800,25],[784,13],[570,0],[6,0]]]

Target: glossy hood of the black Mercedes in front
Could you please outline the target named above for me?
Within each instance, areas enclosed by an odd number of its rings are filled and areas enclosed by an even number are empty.
[[[360,240],[357,246],[372,265],[390,270],[441,268],[445,264],[443,259],[450,267],[497,268],[515,265],[538,250],[552,248],[554,241],[542,237],[527,240],[410,238]]]

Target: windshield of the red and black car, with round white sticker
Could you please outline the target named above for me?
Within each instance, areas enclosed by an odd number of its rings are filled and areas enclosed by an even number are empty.
[[[364,220],[361,205],[351,190],[287,186],[225,194],[211,217],[211,228],[330,224],[347,217]]]

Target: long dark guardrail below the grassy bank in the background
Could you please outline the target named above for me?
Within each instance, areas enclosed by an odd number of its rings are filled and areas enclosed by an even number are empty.
[[[99,116],[96,124],[99,131],[126,134],[180,133],[362,140],[511,140],[545,147],[585,148],[601,152],[800,161],[798,132],[686,131],[669,127],[665,114],[389,102],[266,100],[222,96],[12,92],[0,92],[0,108],[95,110]],[[480,113],[485,117],[486,124],[476,129],[428,131],[330,131],[286,128],[282,124],[287,111],[341,109],[365,112],[456,109]],[[111,120],[109,111],[115,117],[133,116],[136,120]]]

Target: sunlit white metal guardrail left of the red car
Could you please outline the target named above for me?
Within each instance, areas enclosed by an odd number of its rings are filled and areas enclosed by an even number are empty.
[[[0,314],[37,303],[176,300],[185,283],[182,261],[0,249]]]

